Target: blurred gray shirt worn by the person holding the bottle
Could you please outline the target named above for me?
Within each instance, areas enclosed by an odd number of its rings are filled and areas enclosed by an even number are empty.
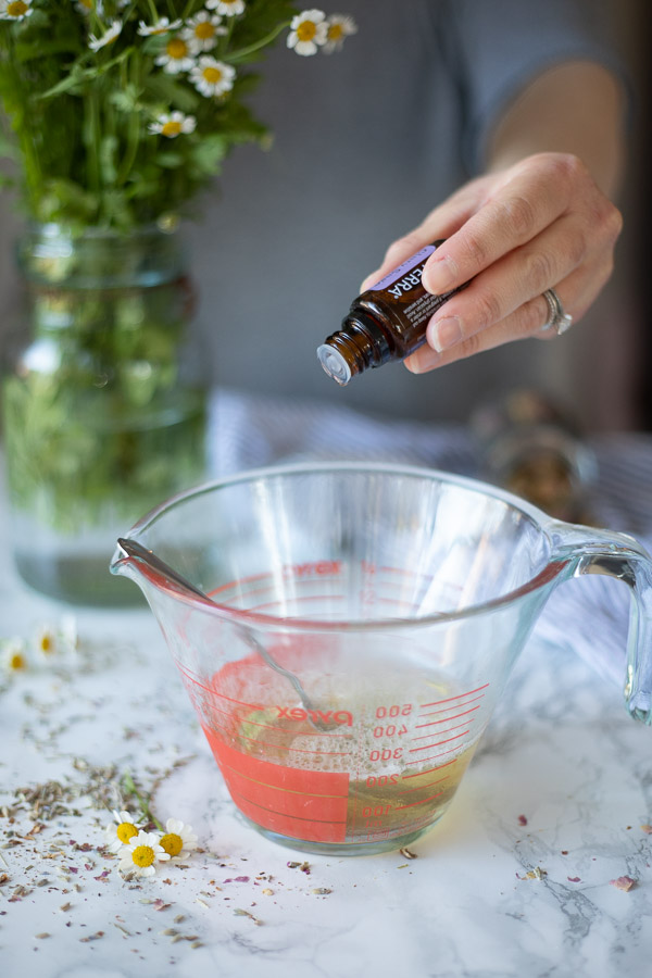
[[[347,0],[342,9],[359,26],[342,51],[301,58],[281,42],[268,54],[252,105],[274,145],[238,148],[189,228],[202,359],[229,387],[463,419],[498,387],[544,386],[563,352],[512,343],[422,376],[388,364],[341,389],[315,349],[389,242],[481,170],[497,116],[528,79],[569,58],[613,59],[602,4]]]

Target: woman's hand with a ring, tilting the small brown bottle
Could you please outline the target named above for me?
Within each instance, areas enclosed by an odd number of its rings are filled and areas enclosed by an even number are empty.
[[[423,284],[441,294],[466,281],[428,323],[427,344],[406,361],[424,373],[512,340],[556,337],[543,329],[554,288],[580,319],[613,269],[618,210],[569,153],[537,153],[465,184],[387,251],[363,288],[406,258],[446,238],[428,259]]]

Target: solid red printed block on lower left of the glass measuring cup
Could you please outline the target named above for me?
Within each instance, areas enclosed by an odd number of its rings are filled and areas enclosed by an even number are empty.
[[[305,842],[343,842],[349,775],[303,770],[250,757],[202,727],[240,811],[269,831]]]

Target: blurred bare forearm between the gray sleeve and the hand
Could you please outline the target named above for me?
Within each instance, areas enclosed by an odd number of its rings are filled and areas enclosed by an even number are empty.
[[[538,75],[498,123],[489,172],[539,152],[573,153],[611,199],[624,168],[624,93],[618,79],[593,62],[567,62]]]

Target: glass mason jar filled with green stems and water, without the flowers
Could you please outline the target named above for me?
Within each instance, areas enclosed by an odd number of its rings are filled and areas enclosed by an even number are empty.
[[[53,598],[129,604],[116,536],[205,473],[179,235],[40,225],[17,260],[29,339],[2,385],[16,565]]]

